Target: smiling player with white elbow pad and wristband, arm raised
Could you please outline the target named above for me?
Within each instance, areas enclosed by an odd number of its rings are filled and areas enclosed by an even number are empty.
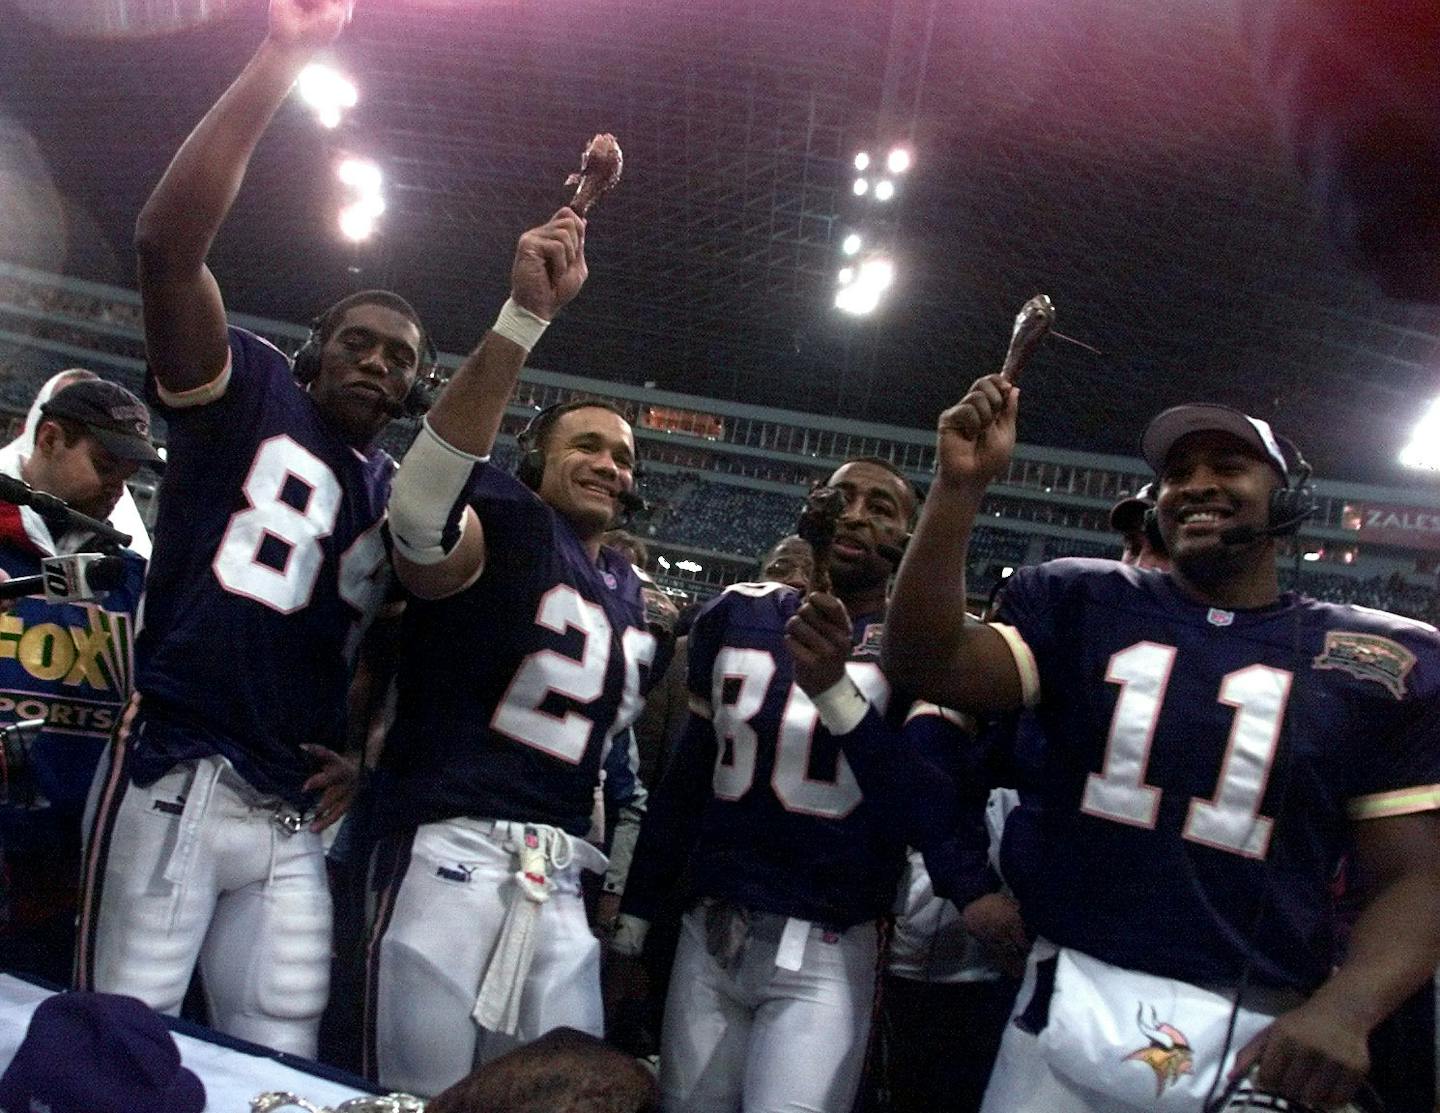
[[[527,351],[586,276],[562,209],[520,238],[511,297],[406,454],[390,500],[412,598],[376,779],[367,1070],[438,1093],[567,1025],[600,1034],[580,871],[606,752],[655,654],[641,583],[602,546],[632,497],[635,438],[609,403],[541,410],[511,475],[487,462]],[[608,878],[619,888],[619,878]]]

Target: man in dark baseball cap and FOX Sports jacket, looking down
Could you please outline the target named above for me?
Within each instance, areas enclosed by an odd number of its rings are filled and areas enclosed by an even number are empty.
[[[40,405],[33,446],[0,458],[0,472],[105,520],[125,479],[158,459],[145,405],[117,383],[85,379]],[[92,541],[62,517],[0,503],[0,579],[36,576],[45,557],[89,551]],[[53,982],[69,981],[75,949],[85,796],[131,694],[145,562],[130,550],[121,559],[124,576],[104,602],[36,595],[0,613],[0,848],[10,881],[0,968]]]

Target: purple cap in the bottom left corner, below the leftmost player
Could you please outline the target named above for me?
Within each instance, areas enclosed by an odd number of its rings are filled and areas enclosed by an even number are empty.
[[[0,1076],[0,1109],[29,1113],[202,1113],[204,1086],[180,1065],[166,1022],[132,996],[40,1002]]]

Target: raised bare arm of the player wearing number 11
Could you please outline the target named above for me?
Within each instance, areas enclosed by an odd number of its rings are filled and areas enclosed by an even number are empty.
[[[1009,644],[965,613],[971,531],[985,488],[1015,448],[1018,409],[1020,389],[989,374],[940,415],[935,482],[886,615],[886,675],[945,707],[999,711],[1024,697]]]

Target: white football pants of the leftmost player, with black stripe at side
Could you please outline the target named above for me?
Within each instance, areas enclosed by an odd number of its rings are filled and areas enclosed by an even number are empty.
[[[287,809],[223,757],[148,788],[130,782],[122,743],[109,757],[88,811],[76,985],[174,1015],[199,960],[212,1027],[314,1058],[330,992],[320,835],[284,829]]]

